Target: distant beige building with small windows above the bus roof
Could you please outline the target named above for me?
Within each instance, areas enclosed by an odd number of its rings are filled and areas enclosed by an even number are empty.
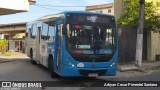
[[[110,4],[103,4],[103,5],[87,6],[86,11],[114,15],[114,4],[110,3]]]

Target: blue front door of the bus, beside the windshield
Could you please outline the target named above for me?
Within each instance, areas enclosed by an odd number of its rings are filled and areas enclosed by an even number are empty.
[[[61,64],[62,64],[62,26],[63,26],[62,23],[56,24],[55,47],[57,48],[55,48],[55,53],[54,53],[54,56],[55,56],[54,67],[57,72],[61,71]]]

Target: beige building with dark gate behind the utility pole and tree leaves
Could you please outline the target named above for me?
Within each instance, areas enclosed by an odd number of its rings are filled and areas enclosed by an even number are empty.
[[[159,0],[145,0],[158,2]],[[115,17],[118,20],[125,12],[122,0],[114,0]],[[159,11],[160,12],[160,11]],[[158,11],[157,11],[158,13]],[[119,26],[119,53],[121,59],[135,59],[137,28]],[[155,61],[160,56],[160,33],[144,30],[143,60]]]

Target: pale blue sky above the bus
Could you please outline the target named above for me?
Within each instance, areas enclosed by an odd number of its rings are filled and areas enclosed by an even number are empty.
[[[1,15],[0,24],[30,22],[40,17],[63,11],[84,11],[84,6],[113,3],[114,0],[36,0],[36,5],[30,5],[29,12]],[[51,7],[52,6],[52,7]],[[82,6],[82,7],[55,7]]]

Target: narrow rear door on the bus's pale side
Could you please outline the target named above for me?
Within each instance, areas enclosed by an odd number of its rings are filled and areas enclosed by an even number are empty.
[[[40,39],[41,39],[41,26],[37,27],[37,37],[36,37],[36,61],[40,63]]]

